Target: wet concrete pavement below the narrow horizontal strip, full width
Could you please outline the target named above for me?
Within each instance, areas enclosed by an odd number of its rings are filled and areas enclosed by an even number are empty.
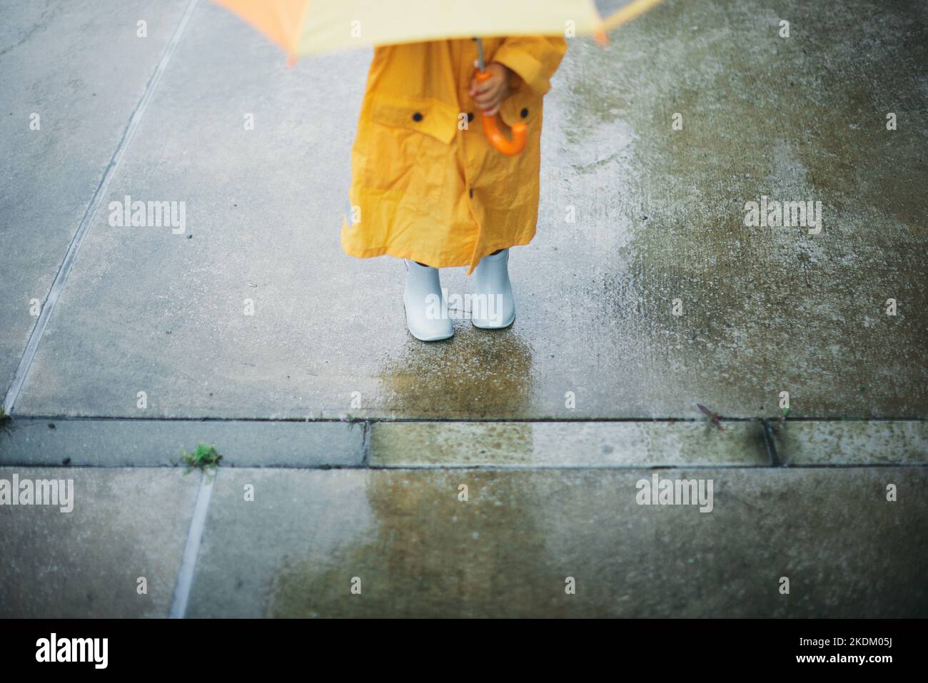
[[[210,480],[186,613],[923,617],[925,475],[226,468]],[[0,508],[8,530],[0,550],[17,558],[0,563],[0,615],[167,616],[199,475],[75,468],[67,476],[70,514]],[[654,476],[712,481],[711,511],[638,505],[638,482]],[[886,500],[888,483],[896,502]],[[571,580],[574,593],[565,590]]]

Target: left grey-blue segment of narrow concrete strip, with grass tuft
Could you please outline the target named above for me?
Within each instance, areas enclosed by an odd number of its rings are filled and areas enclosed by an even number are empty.
[[[165,467],[202,442],[223,467],[358,467],[364,431],[345,422],[17,419],[0,435],[0,465]]]

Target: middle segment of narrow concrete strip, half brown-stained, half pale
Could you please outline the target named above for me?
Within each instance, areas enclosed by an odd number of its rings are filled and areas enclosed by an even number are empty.
[[[376,422],[371,467],[770,464],[760,422]]]

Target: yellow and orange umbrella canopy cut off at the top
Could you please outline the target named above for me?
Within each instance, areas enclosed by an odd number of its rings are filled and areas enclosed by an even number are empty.
[[[290,58],[367,45],[600,33],[662,0],[215,0]]]

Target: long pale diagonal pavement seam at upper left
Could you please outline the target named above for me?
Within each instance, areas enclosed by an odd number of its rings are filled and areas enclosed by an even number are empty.
[[[181,36],[187,29],[187,23],[189,23],[190,17],[198,2],[199,0],[190,0],[180,22],[177,24],[177,28],[174,29],[174,34],[171,36],[171,39],[164,48],[164,52],[161,54],[161,59],[148,78],[148,83],[145,84],[145,92],[135,105],[135,110],[132,111],[129,117],[129,123],[126,125],[125,130],[122,131],[122,136],[116,144],[116,149],[113,151],[112,157],[110,157],[110,163],[107,164],[106,169],[103,171],[103,177],[100,178],[94,196],[91,198],[86,212],[84,212],[84,217],[81,219],[80,225],[74,232],[74,237],[71,238],[71,243],[68,245],[68,251],[65,252],[64,260],[61,262],[61,265],[58,266],[58,273],[55,274],[55,279],[52,280],[52,285],[48,290],[48,294],[45,296],[45,303],[43,303],[42,311],[39,314],[38,320],[35,322],[35,327],[32,328],[29,342],[27,342],[22,357],[19,359],[19,366],[16,368],[16,374],[13,375],[13,381],[10,384],[9,391],[6,392],[6,396],[4,397],[4,410],[7,415],[13,412],[13,406],[16,405],[16,400],[19,398],[19,392],[22,390],[26,375],[29,373],[29,368],[32,367],[32,360],[35,357],[36,351],[38,351],[39,343],[42,341],[42,335],[45,334],[48,320],[55,310],[55,304],[58,303],[58,296],[61,290],[64,289],[65,280],[71,273],[71,267],[77,258],[77,252],[80,251],[81,245],[84,243],[84,238],[86,238],[87,234],[90,232],[90,226],[92,226],[97,219],[97,213],[110,188],[110,183],[119,169],[122,157],[125,155],[125,151],[135,135],[135,130],[138,128],[139,123],[145,115],[145,111],[148,109],[148,103],[154,96],[155,90],[158,89],[158,84],[161,82],[161,75],[167,68],[168,62],[171,61],[171,57],[174,55],[174,48],[180,42]]]

